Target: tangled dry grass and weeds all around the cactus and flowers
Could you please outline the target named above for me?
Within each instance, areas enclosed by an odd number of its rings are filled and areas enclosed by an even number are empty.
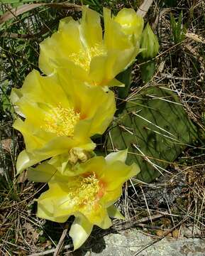
[[[122,2],[125,1],[116,1],[111,7],[114,10],[120,9]],[[98,10],[101,6],[96,4],[92,7]],[[8,7],[2,8],[5,11]],[[194,36],[188,35],[176,45],[170,36],[170,11],[177,16],[181,10],[184,11],[187,32],[194,33]],[[54,252],[52,248],[57,246],[64,229],[63,225],[45,222],[35,216],[34,199],[46,189],[46,185],[28,182],[26,173],[18,177],[14,175],[16,156],[24,145],[21,134],[11,128],[13,110],[11,105],[5,107],[5,102],[11,87],[20,87],[31,69],[37,68],[38,43],[55,30],[57,21],[68,15],[67,12],[66,9],[55,11],[45,7],[39,12],[28,12],[26,18],[18,16],[1,26],[1,34],[4,33],[4,37],[1,38],[0,96],[4,96],[4,106],[1,105],[0,109],[0,255],[30,255],[43,250]],[[166,84],[170,90],[177,92],[190,119],[199,127],[200,137],[199,141],[187,147],[182,155],[170,164],[167,169],[169,173],[160,176],[157,181],[141,183],[137,187],[128,186],[128,183],[124,186],[118,207],[126,216],[126,223],[114,220],[113,228],[109,232],[136,226],[157,237],[204,238],[204,13],[203,1],[183,0],[174,7],[165,7],[155,1],[146,16],[157,30],[161,48],[156,58],[156,73],[153,80],[145,86]],[[32,32],[38,34],[38,38],[12,37],[12,33],[20,32]],[[138,92],[142,88],[138,65],[135,65],[133,80],[135,85],[138,85],[138,89],[133,88],[133,91]],[[95,238],[104,235],[98,228],[93,234]],[[67,235],[66,248],[70,248],[70,242]],[[84,250],[88,250],[90,246],[92,238]]]

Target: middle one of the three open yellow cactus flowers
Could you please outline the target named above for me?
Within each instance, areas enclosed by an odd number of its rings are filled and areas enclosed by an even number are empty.
[[[113,92],[76,82],[64,69],[48,77],[33,70],[23,87],[13,90],[11,101],[25,118],[13,124],[26,143],[18,156],[18,173],[75,147],[93,150],[90,137],[103,134],[116,111]]]

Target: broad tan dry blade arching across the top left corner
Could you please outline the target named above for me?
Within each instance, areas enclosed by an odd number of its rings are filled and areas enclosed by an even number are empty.
[[[60,4],[60,3],[51,3],[51,4],[24,4],[23,6],[19,6],[18,8],[11,9],[6,12],[6,14],[2,15],[0,17],[0,24],[4,23],[5,21],[9,21],[9,19],[16,17],[20,14],[24,14],[27,11],[31,11],[33,9],[36,9],[40,6],[49,6],[49,7],[55,7],[55,8],[64,8],[64,9],[81,9],[81,6],[77,4]]]

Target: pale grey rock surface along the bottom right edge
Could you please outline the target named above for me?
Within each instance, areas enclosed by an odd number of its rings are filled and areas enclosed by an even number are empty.
[[[205,256],[205,240],[199,238],[164,238],[157,241],[139,230],[132,229],[105,235],[104,238],[94,242],[92,249],[87,248],[87,251],[81,250],[75,252],[74,255]]]

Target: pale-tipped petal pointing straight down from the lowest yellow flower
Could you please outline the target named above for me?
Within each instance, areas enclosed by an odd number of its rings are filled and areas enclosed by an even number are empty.
[[[70,228],[69,235],[72,238],[72,242],[74,245],[74,250],[77,250],[81,247],[84,242],[89,237],[92,232],[93,225],[89,223],[87,218],[84,218],[83,215],[79,215],[74,219],[72,226]]]

